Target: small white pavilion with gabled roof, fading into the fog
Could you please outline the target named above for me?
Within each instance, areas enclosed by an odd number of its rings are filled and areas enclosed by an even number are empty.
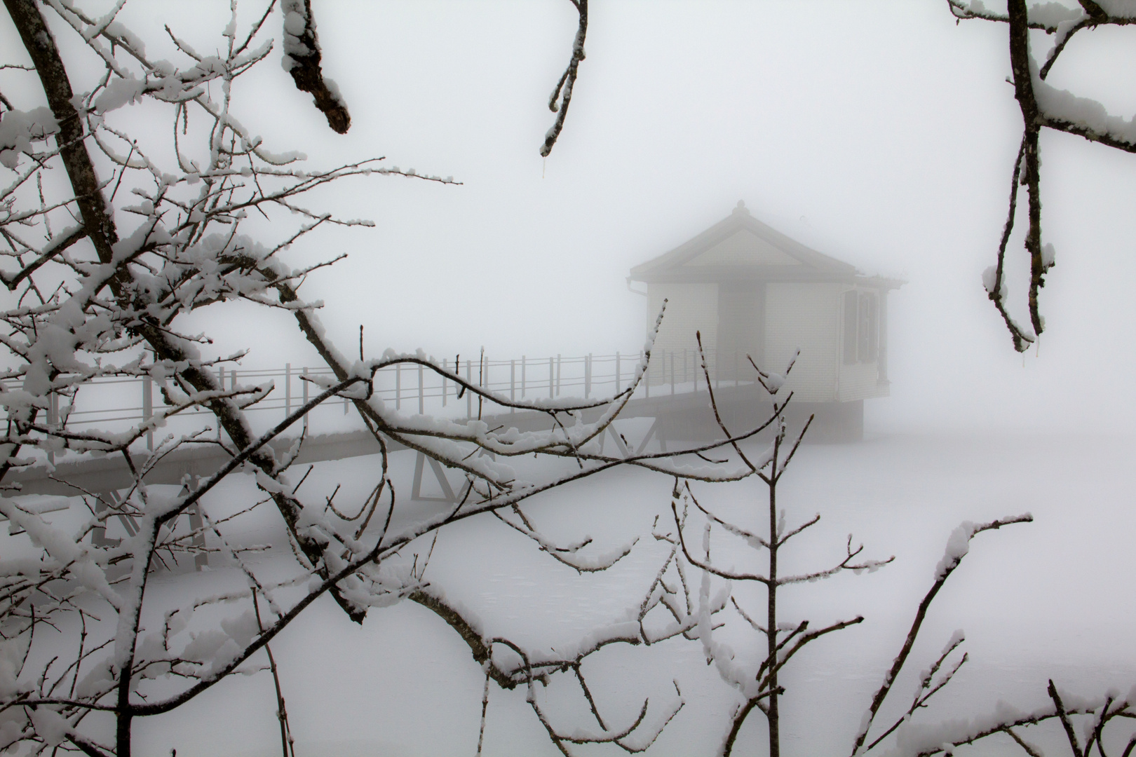
[[[683,376],[692,376],[701,331],[716,381],[752,381],[746,356],[782,373],[800,350],[786,389],[797,412],[817,414],[810,437],[861,438],[863,401],[888,395],[887,293],[903,283],[866,276],[804,246],[753,218],[744,202],[633,268],[630,281],[646,284],[652,322],[667,300],[653,385],[675,380],[676,359]]]

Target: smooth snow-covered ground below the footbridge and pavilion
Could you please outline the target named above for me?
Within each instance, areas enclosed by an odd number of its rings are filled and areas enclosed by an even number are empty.
[[[785,752],[850,751],[870,693],[930,586],[947,536],[963,520],[1024,512],[1036,519],[976,537],[933,605],[909,662],[911,681],[897,684],[893,706],[907,705],[914,675],[959,628],[966,631],[970,662],[937,695],[936,706],[924,715],[927,720],[984,714],[1000,699],[1022,708],[1039,706],[1050,678],[1084,693],[1109,687],[1127,692],[1136,683],[1134,455],[1136,438],[1077,435],[878,431],[860,444],[802,448],[782,481],[779,501],[791,523],[816,512],[822,521],[783,556],[785,570],[838,561],[849,532],[866,544],[869,556],[894,554],[895,562],[876,573],[842,574],[783,590],[786,621],[808,617],[819,624],[855,614],[867,619],[815,642],[783,673]],[[396,481],[409,481],[412,463],[411,453],[394,455]],[[366,457],[321,463],[304,489],[309,495],[329,494],[342,483],[336,502],[344,506],[366,495],[375,464]],[[550,493],[528,510],[546,533],[563,541],[591,535],[596,549],[605,550],[649,535],[654,515],[668,507],[669,490],[663,477],[623,470]],[[752,503],[754,516],[763,497],[753,481],[695,491],[722,512],[742,513]],[[219,493],[209,507],[224,510],[225,501]],[[250,533],[249,539],[274,536],[281,535]],[[486,516],[445,530],[426,577],[473,609],[487,632],[534,647],[557,646],[621,620],[657,570],[660,546],[646,536],[610,571],[580,577]],[[744,554],[737,561],[742,564]],[[158,577],[150,591],[170,590],[170,580]],[[184,582],[178,586],[186,590]],[[743,600],[745,591],[738,589]],[[482,672],[457,634],[420,606],[404,602],[375,609],[358,626],[325,597],[273,647],[298,755],[475,752]],[[758,649],[755,637],[752,648]],[[738,651],[744,654],[744,648]],[[696,642],[613,649],[595,655],[587,666],[601,707],[610,708],[617,720],[633,718],[645,697],[651,698],[652,714],[663,713],[675,700],[671,681],[677,681],[686,705],[649,754],[716,751],[736,698],[707,667]],[[550,696],[560,705],[551,712],[563,730],[573,730],[577,721],[590,725],[567,688]],[[136,723],[136,754],[166,755],[176,748],[182,757],[276,755],[274,709],[267,673],[231,679],[174,713]],[[750,717],[741,738],[741,754],[763,754],[759,714]],[[595,754],[583,747],[574,750]],[[972,754],[1014,750],[1021,754],[1009,739],[991,739]],[[495,688],[484,751],[558,754],[524,693]]]

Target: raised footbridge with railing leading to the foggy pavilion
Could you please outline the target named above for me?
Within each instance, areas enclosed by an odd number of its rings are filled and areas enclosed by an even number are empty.
[[[736,356],[735,356],[736,359]],[[611,355],[584,355],[578,358],[554,358],[491,361],[484,358],[477,360],[456,359],[452,363],[459,376],[469,382],[485,387],[498,396],[509,399],[526,399],[545,397],[595,397],[612,396],[626,388],[634,377],[634,371],[641,360],[638,354],[615,353]],[[655,362],[658,361],[658,362]],[[626,446],[625,439],[610,429],[604,436],[604,443],[615,444],[620,454],[644,451],[650,444],[658,444],[662,451],[678,452],[683,445],[678,443],[708,440],[720,437],[720,429],[713,422],[710,410],[710,394],[705,376],[698,367],[698,355],[693,350],[658,351],[652,355],[652,372],[650,382],[644,380],[637,387],[634,396],[627,403],[619,419],[649,418],[652,422],[646,434],[635,443],[635,448]],[[733,361],[732,361],[733,362]],[[713,361],[712,364],[717,364]],[[448,360],[443,367],[450,369]],[[730,365],[730,368],[734,368]],[[724,371],[725,373],[725,371]],[[273,390],[262,401],[247,410],[256,432],[267,430],[282,417],[291,414],[293,409],[301,406],[308,399],[310,380],[316,377],[328,377],[328,369],[293,369],[285,365],[284,370],[249,370],[218,369],[218,378],[223,386],[242,387],[259,386],[272,381]],[[728,372],[729,378],[720,378],[711,373],[715,382],[715,397],[724,418],[728,419],[732,430],[742,431],[760,423],[771,409],[768,396],[759,385],[740,381],[736,369]],[[441,377],[416,364],[396,364],[384,368],[376,373],[375,394],[389,406],[399,412],[431,413],[433,415],[462,420],[481,417],[490,428],[516,428],[521,431],[546,429],[550,426],[548,413],[542,411],[524,411],[506,409],[488,399],[478,399],[471,393],[458,396],[453,381]],[[108,430],[125,430],[139,421],[149,419],[153,413],[153,386],[150,379],[112,379],[95,382],[85,393],[76,406],[66,410],[68,428],[97,427]],[[851,403],[846,403],[851,404]],[[340,410],[342,407],[342,411]],[[594,421],[603,407],[584,411],[584,420]],[[840,406],[805,406],[794,409],[794,415],[807,415],[818,412],[820,423],[810,431],[813,440],[840,440],[847,437],[845,418],[855,417],[846,412],[842,415]],[[200,428],[207,411],[187,413],[187,418],[170,418],[167,428],[170,432]],[[52,407],[48,422],[58,423],[60,411]],[[618,422],[618,421],[617,421]],[[314,410],[303,419],[308,438],[304,441],[298,463],[314,463],[327,460],[339,460],[359,455],[377,454],[378,443],[368,431],[361,428],[358,417],[350,412],[348,401],[328,401]],[[184,429],[178,429],[184,426]],[[120,428],[119,428],[120,427]],[[859,429],[854,429],[859,437]],[[819,437],[819,439],[818,439]],[[277,454],[283,456],[295,437],[279,437],[270,443]],[[144,466],[153,449],[152,435],[132,449],[136,456],[136,465]],[[392,449],[400,449],[396,444]],[[216,445],[184,446],[162,457],[145,474],[149,483],[179,483],[186,474],[209,476],[227,460],[227,455]],[[415,469],[412,496],[421,498],[423,476],[427,465],[441,485],[443,498],[454,499],[454,493],[446,482],[440,463],[419,454]],[[120,455],[91,456],[82,455],[75,459],[43,460],[26,469],[12,471],[6,477],[6,483],[18,483],[22,494],[43,494],[74,496],[87,493],[110,493],[131,486],[133,479]]]

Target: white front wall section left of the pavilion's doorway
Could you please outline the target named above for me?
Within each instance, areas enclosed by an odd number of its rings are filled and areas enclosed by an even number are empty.
[[[648,328],[654,327],[654,319],[667,298],[667,313],[654,340],[654,353],[651,360],[651,382],[663,380],[662,364],[659,358],[662,351],[691,351],[693,361],[698,343],[695,331],[702,331],[702,344],[712,350],[718,342],[718,285],[717,284],[651,284],[648,287]],[[693,362],[692,362],[693,364]],[[667,368],[669,372],[669,367]],[[668,379],[669,380],[669,379]]]

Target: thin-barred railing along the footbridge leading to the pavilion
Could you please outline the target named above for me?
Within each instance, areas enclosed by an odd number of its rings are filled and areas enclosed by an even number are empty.
[[[579,397],[594,398],[612,396],[624,390],[634,379],[635,370],[642,361],[642,353],[616,352],[613,354],[588,354],[577,356],[550,355],[519,359],[495,360],[491,356],[463,359],[457,363],[443,359],[442,367],[452,370],[470,384],[483,386],[492,393],[510,399],[536,397]],[[708,355],[711,365],[711,380],[720,385],[722,381],[737,384],[737,371],[717,371],[717,355]],[[734,361],[736,362],[736,361]],[[253,430],[261,432],[278,422],[308,401],[317,393],[318,386],[307,380],[310,378],[327,378],[332,371],[327,368],[293,367],[291,363],[281,369],[243,369],[241,367],[219,367],[217,377],[226,388],[253,387],[273,382],[272,392],[256,405],[247,409]],[[640,384],[635,397],[688,394],[705,390],[705,377],[698,363],[698,352],[693,348],[662,350],[657,348],[651,358],[648,380]],[[490,399],[483,399],[481,405],[473,393],[458,396],[460,386],[454,381],[438,376],[421,365],[401,363],[379,370],[375,376],[375,394],[387,406],[404,413],[429,413],[444,418],[462,419],[484,415],[496,415],[510,412]],[[74,402],[60,407],[59,397],[52,396],[51,407],[47,413],[49,426],[57,426],[64,420],[68,428],[99,428],[107,431],[123,431],[140,421],[148,420],[153,411],[161,406],[161,397],[156,397],[157,387],[149,378],[112,378],[95,379],[84,384],[76,394]],[[191,428],[200,428],[203,417],[210,414],[206,410],[187,411],[179,417],[169,418],[166,426],[170,432],[185,432]],[[334,399],[324,403],[307,418],[304,424],[311,434],[331,434],[362,428],[358,417],[350,412],[350,402]],[[159,432],[161,435],[161,432]],[[147,446],[153,447],[153,435],[148,437]]]

